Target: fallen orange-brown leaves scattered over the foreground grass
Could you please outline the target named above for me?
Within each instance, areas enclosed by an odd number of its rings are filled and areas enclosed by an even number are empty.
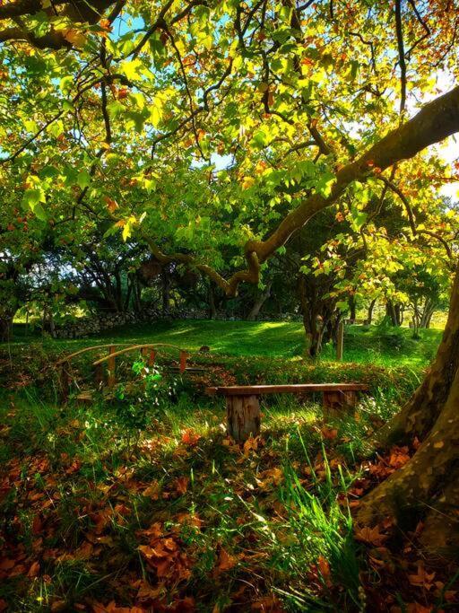
[[[62,437],[80,441],[83,429],[82,420],[72,419],[59,432]],[[8,436],[8,431],[3,428],[1,435]],[[317,426],[315,435],[317,442],[326,441],[326,457],[318,452],[311,454],[310,464],[302,456],[292,461],[300,485],[309,492],[315,491],[316,480],[324,482],[330,474],[339,485],[340,469],[346,464],[337,451],[342,439],[336,428]],[[224,491],[210,512],[207,500],[213,492],[213,456],[207,445],[212,438],[214,456],[223,458],[218,470],[222,468],[224,472]],[[371,486],[406,464],[416,444],[394,447],[376,461],[365,462],[363,473],[351,490],[347,495],[339,495],[342,507],[359,504],[359,498]],[[212,540],[209,534],[218,525],[218,513],[230,516],[238,501],[243,504],[256,501],[260,505],[259,517],[270,527],[289,518],[290,507],[280,495],[286,480],[281,453],[280,446],[273,445],[268,436],[249,438],[240,445],[215,427],[210,436],[193,428],[182,430],[178,437],[148,433],[138,454],[143,466],[152,467],[152,471],[140,472],[131,458],[123,459],[126,465],[110,468],[102,458],[107,477],[101,480],[87,477],[88,466],[76,454],[57,452],[47,457],[38,451],[21,459],[13,458],[0,467],[0,503],[12,496],[13,504],[24,513],[21,516],[13,513],[7,539],[0,542],[4,545],[0,553],[0,582],[20,580],[31,586],[51,582],[57,566],[77,564],[90,573],[94,571],[95,582],[98,576],[104,576],[109,599],[100,602],[83,597],[82,602],[75,603],[76,611],[191,613],[201,606],[199,583],[203,581],[206,596],[212,586],[216,592],[224,586],[225,590],[228,588],[231,606],[280,613],[279,598],[266,594],[269,587],[265,583],[264,564],[269,553],[259,534],[247,528],[253,517],[239,506],[238,516],[231,518],[237,530],[231,532],[230,538],[219,534]],[[191,469],[193,484],[188,477]],[[67,518],[72,528],[65,531],[63,539],[59,513],[69,494],[74,495]],[[411,613],[432,610],[427,603],[438,600],[440,594],[450,603],[449,610],[454,610],[457,594],[447,586],[446,572],[418,560],[416,541],[421,524],[407,535],[397,554],[391,551],[394,540],[389,538],[390,529],[389,522],[359,527],[355,532],[355,539],[366,546],[359,549],[367,560],[368,575],[362,572],[361,582],[368,595],[368,610],[399,613],[397,601],[390,600],[394,591],[403,593],[403,600],[411,603],[406,608]],[[27,547],[15,539],[26,531]],[[292,530],[279,530],[276,537],[285,551],[297,539]],[[207,561],[203,570],[200,564],[204,558]],[[316,556],[315,564],[305,569],[308,589],[319,597],[342,590],[339,574],[335,576],[334,571],[325,553]],[[379,583],[375,593],[371,593],[375,574]],[[190,586],[195,598],[188,593]],[[65,611],[67,606],[62,594],[49,603],[56,613]],[[5,607],[6,602],[0,600],[0,613]],[[214,609],[215,613],[224,610],[220,604]]]

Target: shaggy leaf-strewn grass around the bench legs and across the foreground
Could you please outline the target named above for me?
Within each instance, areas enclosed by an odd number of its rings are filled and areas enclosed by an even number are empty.
[[[350,505],[371,485],[360,460],[370,417],[388,404],[368,399],[325,425],[319,405],[274,399],[262,436],[240,447],[221,407],[185,391],[150,402],[139,429],[113,403],[4,395],[0,606],[382,610],[376,581],[388,602],[436,602],[437,590],[406,589],[414,560],[394,556],[376,578],[352,525]]]

